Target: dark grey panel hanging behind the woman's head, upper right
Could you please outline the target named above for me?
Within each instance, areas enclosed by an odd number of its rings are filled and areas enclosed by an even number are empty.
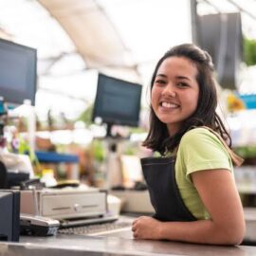
[[[243,60],[241,14],[217,13],[198,17],[199,46],[206,49],[223,88],[238,87],[240,64]]]

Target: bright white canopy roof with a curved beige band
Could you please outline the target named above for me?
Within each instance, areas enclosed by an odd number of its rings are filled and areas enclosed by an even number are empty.
[[[243,30],[256,38],[254,0],[198,0],[197,9],[243,9]],[[42,116],[80,113],[94,99],[95,70],[147,84],[169,47],[192,42],[191,24],[189,0],[0,1],[0,37],[38,49]]]

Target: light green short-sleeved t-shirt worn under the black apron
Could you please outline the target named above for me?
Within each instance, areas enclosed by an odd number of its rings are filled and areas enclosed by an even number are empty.
[[[180,140],[175,177],[183,202],[197,219],[209,219],[210,214],[193,186],[190,174],[212,169],[227,169],[233,174],[227,149],[208,129],[190,130]]]

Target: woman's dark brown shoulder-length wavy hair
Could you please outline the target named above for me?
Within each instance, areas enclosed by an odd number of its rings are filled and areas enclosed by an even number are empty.
[[[151,90],[155,82],[155,76],[159,66],[170,57],[186,58],[195,64],[197,68],[196,81],[199,85],[199,97],[197,107],[192,116],[185,119],[181,129],[174,136],[170,136],[167,125],[160,121],[151,106],[150,130],[142,145],[164,155],[166,151],[174,151],[181,137],[194,127],[208,126],[217,132],[231,146],[231,137],[222,120],[216,113],[217,91],[213,76],[214,66],[208,52],[192,44],[174,46],[168,50],[155,66],[151,80]]]

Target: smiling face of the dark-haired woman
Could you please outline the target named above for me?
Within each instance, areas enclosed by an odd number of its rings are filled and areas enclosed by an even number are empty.
[[[174,135],[182,122],[196,110],[199,85],[197,68],[185,57],[169,57],[159,66],[152,87],[151,101],[156,117]]]

